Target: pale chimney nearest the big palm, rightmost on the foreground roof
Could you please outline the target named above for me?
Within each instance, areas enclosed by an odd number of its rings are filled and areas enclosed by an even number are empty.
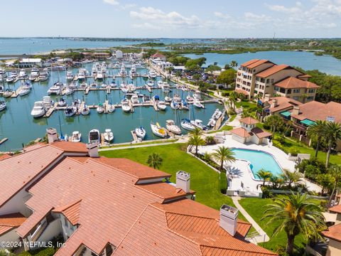
[[[222,205],[220,208],[220,227],[232,236],[237,232],[238,212],[239,210],[232,206]]]

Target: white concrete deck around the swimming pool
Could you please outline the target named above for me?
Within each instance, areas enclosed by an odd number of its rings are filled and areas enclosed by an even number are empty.
[[[200,146],[200,153],[212,153],[218,146],[227,146],[229,148],[239,148],[239,149],[252,149],[257,151],[265,151],[266,153],[274,156],[274,159],[278,162],[282,169],[288,169],[289,171],[295,171],[295,161],[288,159],[288,155],[281,151],[281,149],[276,148],[272,145],[256,145],[256,144],[242,144],[232,139],[232,135],[224,136],[224,143],[215,144],[211,146]],[[259,191],[258,185],[263,183],[263,181],[256,181],[253,179],[251,170],[249,169],[249,162],[238,159],[232,163],[228,163],[229,173],[232,174],[232,181],[229,183],[229,189],[234,191]],[[306,186],[310,191],[320,191],[320,187],[305,180]]]

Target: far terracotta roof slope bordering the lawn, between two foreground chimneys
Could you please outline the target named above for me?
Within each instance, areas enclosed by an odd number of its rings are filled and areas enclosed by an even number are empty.
[[[131,176],[139,179],[171,177],[170,174],[166,174],[163,171],[158,171],[143,164],[136,163],[135,161],[131,161],[129,159],[112,159],[107,157],[99,157],[94,159],[94,161],[99,161],[102,164],[106,164],[108,166],[114,167],[114,169],[124,171],[126,174],[130,174]]]

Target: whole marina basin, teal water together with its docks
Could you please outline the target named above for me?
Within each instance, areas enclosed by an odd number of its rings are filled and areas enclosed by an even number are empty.
[[[107,60],[106,63],[109,65],[109,63],[112,63],[112,60]],[[146,129],[144,140],[161,139],[153,134],[151,122],[158,122],[162,127],[166,127],[166,120],[174,119],[175,112],[177,112],[175,123],[179,126],[180,119],[183,118],[200,119],[203,124],[207,124],[217,108],[223,109],[221,102],[206,95],[200,95],[200,103],[205,108],[194,107],[193,102],[188,102],[190,111],[182,110],[181,104],[177,110],[173,110],[171,102],[164,102],[165,110],[161,110],[160,104],[165,97],[175,96],[185,100],[188,95],[193,95],[196,92],[183,90],[183,88],[177,87],[171,81],[168,81],[171,92],[163,92],[163,88],[158,86],[158,81],[163,80],[163,78],[161,75],[152,79],[148,78],[149,70],[144,63],[141,63],[138,66],[139,68],[136,68],[137,74],[132,78],[129,75],[131,65],[126,61],[127,75],[119,74],[121,68],[119,66],[117,68],[107,68],[104,78],[97,78],[95,80],[90,75],[95,64],[85,63],[82,65],[82,68],[85,68],[89,75],[86,75],[81,80],[79,77],[78,80],[75,80],[79,68],[59,71],[49,70],[50,76],[48,80],[28,81],[31,83],[32,89],[30,93],[23,96],[19,96],[23,90],[23,80],[11,83],[4,82],[4,87],[12,90],[12,95],[6,98],[0,95],[0,99],[4,100],[7,106],[5,111],[0,112],[0,138],[9,138],[1,144],[0,151],[21,149],[23,144],[43,137],[45,129],[48,127],[59,127],[58,133],[64,137],[65,135],[71,137],[72,132],[78,131],[80,134],[83,134],[82,142],[87,142],[87,134],[92,129],[98,129],[101,134],[104,133],[105,129],[112,129],[115,136],[110,143],[139,142],[141,138],[136,136],[136,127],[144,127]],[[70,80],[67,81],[67,71],[70,70],[75,77],[71,82]],[[30,70],[26,70],[26,73],[30,74]],[[60,94],[54,95],[53,86],[57,82],[60,88],[59,90],[58,88],[55,89]],[[68,85],[71,85],[72,82],[77,87],[72,87],[72,92],[69,94],[67,92],[68,88],[70,88]],[[86,83],[86,87],[82,86],[84,83]],[[109,86],[111,84],[115,84],[115,86]],[[122,85],[129,85],[132,91],[123,92],[124,88]],[[48,91],[53,92],[49,97],[47,97]],[[154,100],[156,96],[159,100]],[[67,105],[58,105],[62,98]],[[45,110],[42,117],[34,118],[31,116],[34,103],[44,99],[52,100],[53,102]],[[127,102],[128,112],[122,110],[123,100]],[[67,117],[65,115],[67,106],[73,106],[75,101],[79,101],[79,106],[75,107],[75,114]],[[160,101],[160,104],[158,101]],[[89,109],[89,114],[87,115],[81,113],[85,106]],[[98,112],[99,107],[103,107],[102,113]],[[222,123],[219,120],[218,122]],[[181,132],[182,134],[188,133],[185,129],[182,129]],[[175,134],[167,131],[167,137],[174,138]]]

